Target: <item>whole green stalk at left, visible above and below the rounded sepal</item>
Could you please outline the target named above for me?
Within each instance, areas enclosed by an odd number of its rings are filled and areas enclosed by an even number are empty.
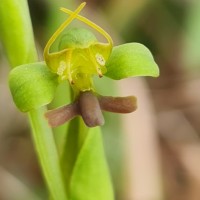
[[[1,0],[0,39],[12,67],[37,61],[32,25],[26,0]],[[61,167],[52,129],[44,119],[46,108],[32,110],[29,119],[33,140],[54,200],[66,200]]]

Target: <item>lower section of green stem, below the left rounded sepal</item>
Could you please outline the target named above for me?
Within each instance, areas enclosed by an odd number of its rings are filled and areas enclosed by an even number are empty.
[[[54,200],[67,200],[57,148],[52,129],[44,118],[45,111],[46,108],[42,107],[29,112],[33,140],[52,198]]]

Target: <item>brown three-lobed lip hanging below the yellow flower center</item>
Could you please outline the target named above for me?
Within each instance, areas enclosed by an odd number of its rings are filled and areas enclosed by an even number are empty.
[[[102,110],[114,113],[130,113],[137,108],[137,99],[128,97],[97,96],[92,91],[81,92],[77,100],[67,106],[50,110],[45,114],[50,126],[56,127],[81,115],[89,127],[102,126]]]

